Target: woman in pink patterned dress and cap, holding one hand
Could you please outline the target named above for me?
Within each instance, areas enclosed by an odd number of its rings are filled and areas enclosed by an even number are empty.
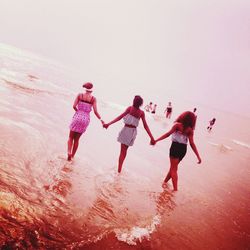
[[[84,93],[77,95],[73,108],[76,111],[70,123],[70,133],[68,139],[68,161],[70,161],[78,148],[81,135],[86,131],[90,122],[90,112],[92,107],[96,117],[101,121],[101,116],[97,111],[96,98],[92,96],[93,84],[87,82],[83,84]]]

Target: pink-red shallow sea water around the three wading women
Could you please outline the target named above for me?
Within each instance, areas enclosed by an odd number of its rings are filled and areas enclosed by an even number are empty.
[[[120,175],[122,123],[106,131],[93,115],[67,162],[71,79],[26,52],[1,46],[0,54],[3,249],[249,249],[249,118],[199,107],[195,139],[203,162],[196,164],[189,147],[172,192],[171,183],[161,187],[170,140],[149,146],[142,125]],[[122,109],[99,101],[107,121]],[[156,136],[173,119],[147,116]]]

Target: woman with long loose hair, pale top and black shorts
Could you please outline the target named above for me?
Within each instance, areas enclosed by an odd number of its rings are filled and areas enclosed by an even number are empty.
[[[163,134],[157,140],[151,141],[151,145],[155,145],[158,141],[164,140],[172,135],[172,144],[169,151],[170,169],[163,182],[163,185],[165,185],[170,179],[172,179],[174,191],[178,190],[178,164],[186,155],[188,141],[192,150],[198,158],[198,164],[201,163],[200,155],[194,143],[194,124],[194,113],[186,111],[177,118],[173,127],[167,133]]]

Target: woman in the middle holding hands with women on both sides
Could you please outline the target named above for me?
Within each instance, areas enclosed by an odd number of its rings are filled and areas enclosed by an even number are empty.
[[[134,97],[132,106],[128,107],[125,112],[120,114],[111,122],[103,125],[103,127],[107,129],[111,124],[120,121],[122,118],[124,121],[124,127],[120,131],[117,138],[118,142],[121,143],[121,150],[118,161],[118,173],[120,173],[122,170],[122,164],[126,158],[128,147],[134,144],[137,135],[137,126],[139,124],[140,119],[142,119],[143,126],[146,132],[148,133],[151,141],[154,141],[154,138],[145,119],[145,113],[140,109],[142,104],[143,99],[139,95],[136,95]]]

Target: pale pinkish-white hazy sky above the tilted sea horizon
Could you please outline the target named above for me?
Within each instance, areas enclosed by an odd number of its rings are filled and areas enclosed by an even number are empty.
[[[249,16],[248,0],[0,0],[0,42],[75,68],[105,99],[250,116]]]

